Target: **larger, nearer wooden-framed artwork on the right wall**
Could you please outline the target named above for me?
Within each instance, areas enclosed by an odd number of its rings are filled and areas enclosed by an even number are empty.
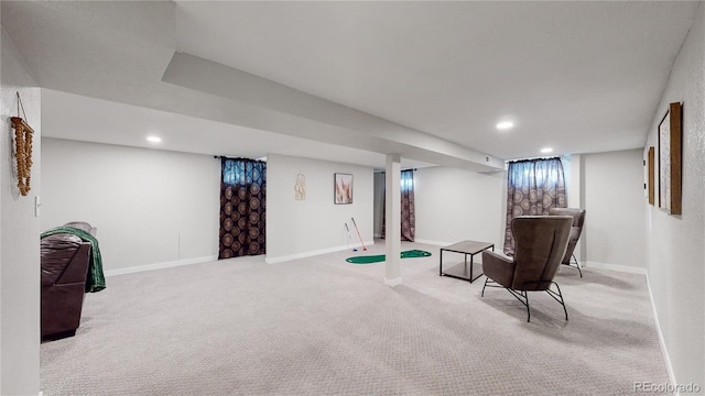
[[[682,106],[671,103],[659,123],[659,208],[681,215]]]

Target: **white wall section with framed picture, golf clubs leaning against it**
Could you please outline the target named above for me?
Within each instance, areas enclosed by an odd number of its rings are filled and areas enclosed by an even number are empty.
[[[296,175],[306,176],[306,199],[294,199]],[[352,204],[334,205],[334,174],[354,176]],[[371,167],[292,157],[267,156],[267,262],[303,257],[348,246],[345,223],[354,217],[366,244],[373,243]],[[350,224],[351,227],[351,224]],[[351,228],[352,243],[359,244]]]

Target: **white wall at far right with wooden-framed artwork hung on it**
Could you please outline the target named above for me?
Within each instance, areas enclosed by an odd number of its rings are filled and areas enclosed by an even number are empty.
[[[675,381],[705,388],[705,6],[676,57],[646,150],[670,102],[683,102],[683,215],[646,208],[649,283]],[[658,161],[658,155],[657,155]],[[657,165],[658,169],[658,165]],[[658,187],[658,183],[655,184]],[[657,188],[657,197],[658,197]]]

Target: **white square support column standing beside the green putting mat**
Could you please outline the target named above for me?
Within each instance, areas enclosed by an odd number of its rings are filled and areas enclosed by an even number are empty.
[[[387,261],[384,283],[389,286],[401,284],[401,155],[387,154],[386,187],[386,237]]]

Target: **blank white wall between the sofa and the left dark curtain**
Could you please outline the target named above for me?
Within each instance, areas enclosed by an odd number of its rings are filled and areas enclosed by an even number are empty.
[[[106,272],[217,257],[220,162],[213,156],[42,143],[42,229],[74,220],[97,227]]]

